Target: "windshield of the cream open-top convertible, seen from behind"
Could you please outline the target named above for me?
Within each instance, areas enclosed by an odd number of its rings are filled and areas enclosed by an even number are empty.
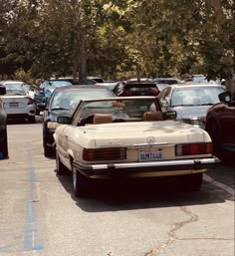
[[[113,122],[116,120],[142,121],[143,114],[149,112],[151,105],[156,106],[154,99],[87,102],[83,106],[80,121],[95,114],[112,115]]]

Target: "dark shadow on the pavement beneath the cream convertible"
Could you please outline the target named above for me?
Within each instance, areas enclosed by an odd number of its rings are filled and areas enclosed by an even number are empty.
[[[76,204],[87,212],[223,203],[231,199],[226,191],[206,181],[200,191],[190,191],[173,178],[95,180],[89,186],[88,196],[77,198],[73,193],[72,176],[58,178]]]

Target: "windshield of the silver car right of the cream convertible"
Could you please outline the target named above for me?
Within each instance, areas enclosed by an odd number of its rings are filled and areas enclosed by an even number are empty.
[[[222,92],[222,87],[176,88],[172,93],[171,107],[213,105],[219,102],[218,95]]]

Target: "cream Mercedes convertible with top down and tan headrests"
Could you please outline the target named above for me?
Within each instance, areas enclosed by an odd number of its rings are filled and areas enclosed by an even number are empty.
[[[72,118],[58,118],[57,172],[72,171],[76,196],[86,194],[91,178],[117,176],[177,176],[197,190],[219,159],[205,130],[175,116],[162,113],[155,97],[82,101]]]

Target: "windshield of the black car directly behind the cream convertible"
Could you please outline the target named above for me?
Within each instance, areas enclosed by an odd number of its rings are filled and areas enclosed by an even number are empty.
[[[58,90],[50,102],[50,109],[76,109],[81,100],[111,97],[114,97],[114,94],[106,88]]]

